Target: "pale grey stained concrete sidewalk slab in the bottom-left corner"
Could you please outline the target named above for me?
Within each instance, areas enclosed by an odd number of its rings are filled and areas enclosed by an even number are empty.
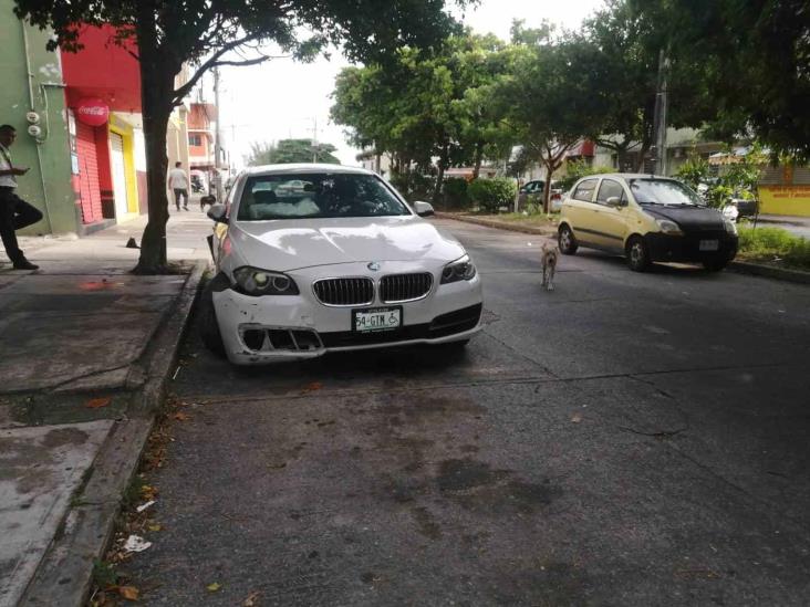
[[[23,595],[113,423],[0,430],[0,605]]]

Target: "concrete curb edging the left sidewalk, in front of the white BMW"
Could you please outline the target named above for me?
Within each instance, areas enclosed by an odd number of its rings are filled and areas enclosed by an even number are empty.
[[[135,417],[113,425],[86,484],[74,498],[76,505],[68,511],[62,532],[51,543],[18,607],[85,604],[94,563],[104,557],[112,538],[123,493],[135,475],[155,411],[166,395],[166,385],[206,268],[205,262],[195,264],[177,295],[177,305],[160,323],[149,352],[146,383],[129,411]]]

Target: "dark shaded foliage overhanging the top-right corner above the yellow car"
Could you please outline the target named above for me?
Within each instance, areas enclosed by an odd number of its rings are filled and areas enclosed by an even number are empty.
[[[806,0],[625,0],[660,24],[674,65],[702,66],[707,132],[757,138],[810,159],[810,7]]]

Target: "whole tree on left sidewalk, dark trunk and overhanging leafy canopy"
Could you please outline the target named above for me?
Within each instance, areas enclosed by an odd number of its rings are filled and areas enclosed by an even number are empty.
[[[354,61],[386,63],[402,46],[428,48],[457,29],[445,0],[14,0],[15,12],[52,28],[51,48],[80,48],[86,24],[111,24],[118,41],[135,41],[141,64],[149,221],[135,269],[166,268],[166,125],[175,105],[202,74],[218,65],[250,65],[269,59],[274,43],[299,59],[328,44]],[[456,0],[465,4],[466,0]],[[194,70],[175,87],[184,65]]]

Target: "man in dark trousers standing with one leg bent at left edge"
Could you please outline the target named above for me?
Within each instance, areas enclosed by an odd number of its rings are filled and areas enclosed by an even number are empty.
[[[28,172],[27,168],[11,163],[9,148],[14,139],[17,129],[9,124],[0,125],[0,237],[14,270],[37,270],[39,265],[28,261],[17,243],[17,230],[33,226],[42,219],[42,213],[14,191],[17,178]]]

